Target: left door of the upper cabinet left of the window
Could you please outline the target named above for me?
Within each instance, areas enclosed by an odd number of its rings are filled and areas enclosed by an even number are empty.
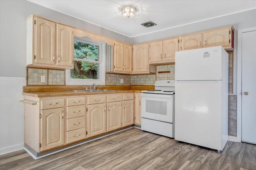
[[[34,25],[34,65],[54,65],[56,23],[35,17]]]

